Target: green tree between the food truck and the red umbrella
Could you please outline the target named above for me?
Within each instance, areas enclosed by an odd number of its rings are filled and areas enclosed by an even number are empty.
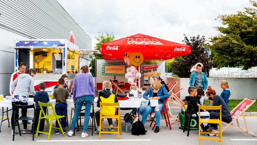
[[[115,35],[113,34],[113,32],[112,33],[98,32],[98,36],[95,38],[97,40],[95,49],[99,50],[103,43],[113,41],[115,39]],[[90,69],[90,73],[93,75],[93,77],[95,77],[95,71],[96,71],[95,70],[95,59],[103,59],[103,55],[90,55],[89,57],[92,59],[89,64],[89,67],[92,67]]]

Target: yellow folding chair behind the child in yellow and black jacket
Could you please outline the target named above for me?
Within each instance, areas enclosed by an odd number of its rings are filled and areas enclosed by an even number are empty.
[[[112,115],[112,116],[103,116],[102,114],[102,106],[118,106],[118,115]],[[114,109],[114,108],[113,108]],[[118,121],[118,126],[113,126],[112,128],[118,128],[117,132],[109,132],[109,131],[104,131],[104,128],[110,128],[109,126],[104,126],[104,118],[115,118]],[[103,125],[103,131],[101,131],[101,124]],[[101,133],[116,133],[118,134],[118,139],[119,139],[119,132],[121,130],[121,113],[120,113],[120,104],[118,103],[102,103],[100,102],[100,131],[99,131],[99,139],[101,138]],[[121,132],[122,134],[122,132]]]

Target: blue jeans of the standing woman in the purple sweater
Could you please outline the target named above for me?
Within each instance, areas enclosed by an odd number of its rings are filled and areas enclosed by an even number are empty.
[[[70,130],[74,131],[75,129],[75,125],[77,123],[80,111],[81,111],[81,107],[85,102],[85,120],[84,120],[84,126],[83,126],[83,132],[87,131],[87,126],[89,123],[89,115],[90,115],[90,110],[91,110],[91,105],[93,102],[93,96],[82,96],[77,98],[77,102],[76,102],[76,110],[74,113],[74,116],[72,118],[72,123],[71,123],[71,127]]]

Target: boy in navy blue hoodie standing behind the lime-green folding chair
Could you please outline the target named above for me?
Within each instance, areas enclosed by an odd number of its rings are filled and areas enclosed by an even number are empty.
[[[36,127],[38,125],[38,120],[39,120],[39,114],[40,114],[40,106],[38,104],[38,101],[40,101],[41,103],[47,103],[49,101],[49,97],[48,97],[48,93],[45,91],[45,83],[40,83],[39,84],[39,91],[36,92],[36,95],[34,96],[34,102],[36,103],[36,118],[35,118],[35,128],[34,128],[34,132],[36,131]],[[42,106],[44,113],[46,114],[47,112],[47,107]],[[43,113],[41,114],[41,117],[43,117]],[[42,119],[40,121],[39,124],[39,131],[43,131],[44,130],[44,122],[45,119]],[[32,129],[33,129],[33,123],[32,123]],[[32,130],[31,129],[31,130]]]

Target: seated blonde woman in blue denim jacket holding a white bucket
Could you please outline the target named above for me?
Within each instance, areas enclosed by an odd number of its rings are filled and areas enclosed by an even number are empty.
[[[165,103],[166,98],[169,97],[168,91],[166,90],[166,88],[164,87],[164,85],[162,85],[159,82],[159,79],[157,76],[152,76],[150,78],[150,86],[148,87],[148,90],[146,90],[146,92],[143,95],[143,98],[145,98],[146,100],[158,100],[158,106],[156,107],[151,107],[151,105],[149,104],[143,113],[142,116],[142,123],[145,124],[145,121],[148,117],[148,114],[150,114],[153,110],[155,113],[155,121],[156,121],[156,127],[154,132],[159,132],[159,126],[160,126],[160,120],[161,120],[161,110],[163,107],[163,104]],[[149,95],[149,97],[148,97]]]

